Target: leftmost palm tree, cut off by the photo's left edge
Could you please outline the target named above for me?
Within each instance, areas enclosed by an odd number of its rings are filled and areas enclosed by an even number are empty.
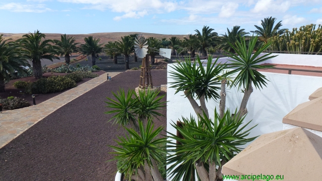
[[[24,67],[29,67],[27,57],[24,57],[19,51],[20,45],[15,42],[6,43],[0,35],[0,92],[4,92],[4,79],[9,82],[10,75],[17,73],[23,74],[27,70]]]

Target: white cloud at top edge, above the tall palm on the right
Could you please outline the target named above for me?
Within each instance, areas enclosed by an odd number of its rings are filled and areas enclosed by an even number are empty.
[[[290,1],[281,1],[281,0],[259,0],[255,7],[252,9],[252,12],[255,13],[266,13],[266,12],[285,12],[291,6]]]

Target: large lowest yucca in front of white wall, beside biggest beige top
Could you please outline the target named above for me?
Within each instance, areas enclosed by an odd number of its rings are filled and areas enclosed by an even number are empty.
[[[246,138],[255,126],[244,131],[251,122],[242,125],[244,118],[237,115],[237,109],[234,116],[227,110],[222,118],[215,110],[214,120],[203,112],[199,119],[182,117],[182,126],[172,122],[182,137],[167,132],[168,138],[178,142],[167,145],[168,176],[173,181],[191,181],[197,171],[201,181],[222,181],[222,165],[242,150],[239,146],[257,137]]]

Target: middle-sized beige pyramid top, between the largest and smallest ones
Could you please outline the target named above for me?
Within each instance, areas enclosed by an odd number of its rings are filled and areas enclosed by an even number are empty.
[[[322,131],[322,97],[296,106],[283,118],[283,123]]]

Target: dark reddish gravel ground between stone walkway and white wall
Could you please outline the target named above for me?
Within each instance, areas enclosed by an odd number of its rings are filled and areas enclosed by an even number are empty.
[[[113,157],[107,145],[116,145],[114,139],[124,130],[107,122],[112,115],[104,114],[104,101],[111,91],[136,88],[139,75],[128,71],[115,76],[2,147],[0,181],[114,181],[116,161],[106,162]],[[152,76],[155,86],[166,84],[166,70],[153,70]],[[161,113],[166,116],[166,110]],[[156,127],[166,127],[166,117],[160,120]]]

